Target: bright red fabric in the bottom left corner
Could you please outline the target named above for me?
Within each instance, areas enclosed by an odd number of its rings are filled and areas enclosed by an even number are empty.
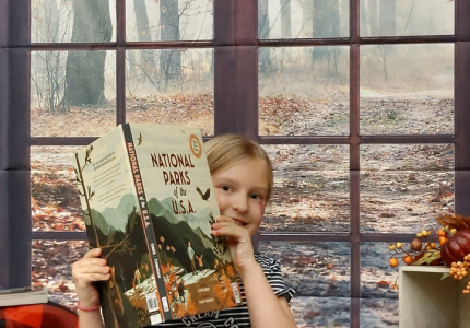
[[[0,328],[78,328],[79,316],[64,306],[47,304],[0,307]]]

